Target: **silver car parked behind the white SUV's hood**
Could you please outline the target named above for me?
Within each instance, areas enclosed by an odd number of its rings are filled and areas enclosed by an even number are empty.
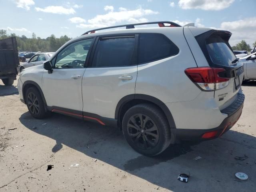
[[[22,72],[25,68],[28,68],[28,67],[42,65],[43,62],[45,62],[52,56],[52,54],[54,53],[46,52],[46,53],[34,54],[34,56],[32,56],[32,58],[30,58],[28,62],[24,62],[20,64],[20,72]]]

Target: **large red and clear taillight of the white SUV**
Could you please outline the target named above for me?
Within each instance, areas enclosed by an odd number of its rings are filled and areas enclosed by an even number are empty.
[[[220,77],[223,68],[196,67],[185,70],[186,75],[204,91],[214,91],[228,86],[230,78]]]

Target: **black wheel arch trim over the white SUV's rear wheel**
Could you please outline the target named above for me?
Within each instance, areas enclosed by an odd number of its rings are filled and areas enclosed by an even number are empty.
[[[115,119],[118,120],[118,126],[122,127],[122,117],[124,116],[124,113],[126,110],[131,108],[132,106],[140,103],[152,103],[158,106],[162,112],[164,112],[164,115],[166,116],[166,119],[168,120],[170,128],[176,128],[172,113],[161,100],[158,98],[155,98],[150,95],[145,94],[131,94],[124,96],[117,104],[116,111],[115,111]]]

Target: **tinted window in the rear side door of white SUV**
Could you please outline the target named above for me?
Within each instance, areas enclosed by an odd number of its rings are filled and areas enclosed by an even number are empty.
[[[130,66],[134,62],[134,36],[100,38],[92,61],[92,67]]]

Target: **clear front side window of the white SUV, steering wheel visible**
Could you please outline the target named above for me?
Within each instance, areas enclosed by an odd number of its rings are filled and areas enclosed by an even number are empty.
[[[79,40],[59,52],[54,68],[83,68],[93,39]]]

